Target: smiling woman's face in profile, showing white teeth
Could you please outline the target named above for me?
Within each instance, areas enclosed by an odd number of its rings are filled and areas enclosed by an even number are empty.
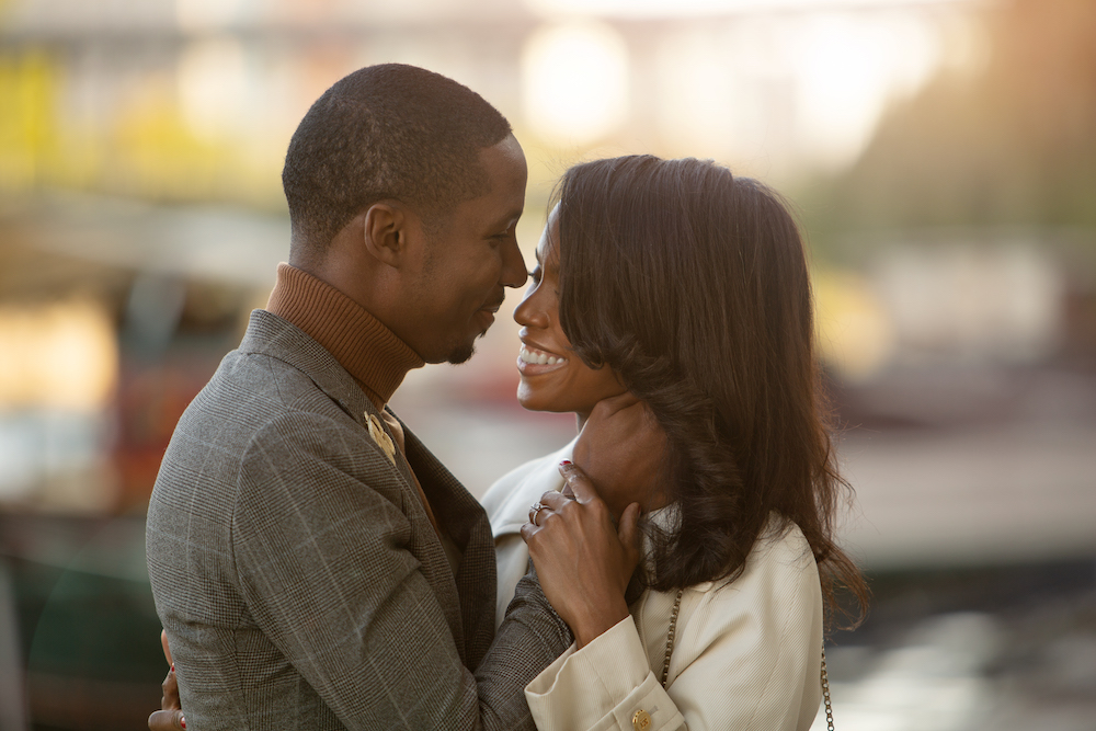
[[[517,400],[530,411],[573,411],[580,423],[594,404],[625,392],[608,367],[591,368],[571,350],[559,324],[559,222],[555,212],[537,244],[533,284],[514,319],[522,325]]]

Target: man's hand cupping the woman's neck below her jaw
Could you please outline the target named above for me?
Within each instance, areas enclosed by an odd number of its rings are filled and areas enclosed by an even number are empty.
[[[666,435],[650,408],[623,393],[594,406],[572,459],[619,517],[633,502],[644,512],[666,504],[665,453]]]

